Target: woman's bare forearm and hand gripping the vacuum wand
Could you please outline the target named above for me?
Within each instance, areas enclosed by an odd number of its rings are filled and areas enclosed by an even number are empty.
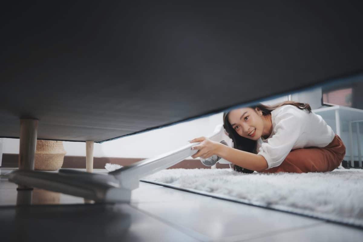
[[[262,155],[240,151],[239,149],[228,147],[227,145],[211,141],[205,137],[196,138],[190,142],[201,142],[199,145],[192,147],[192,149],[199,150],[197,153],[195,153],[195,155],[192,156],[193,158],[208,158],[212,155],[217,155],[225,160],[228,160],[229,162],[232,162],[233,164],[253,171],[262,171],[268,168],[267,161]]]

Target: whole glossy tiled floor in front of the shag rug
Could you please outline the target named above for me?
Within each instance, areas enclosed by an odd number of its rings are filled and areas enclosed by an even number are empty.
[[[28,194],[16,191],[7,172],[0,168],[5,241],[363,241],[361,229],[144,182],[131,204],[84,204],[34,189],[33,205],[15,206]]]

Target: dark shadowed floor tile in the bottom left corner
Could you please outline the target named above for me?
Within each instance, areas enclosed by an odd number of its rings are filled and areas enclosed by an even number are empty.
[[[197,241],[128,204],[0,207],[0,214],[4,241]]]

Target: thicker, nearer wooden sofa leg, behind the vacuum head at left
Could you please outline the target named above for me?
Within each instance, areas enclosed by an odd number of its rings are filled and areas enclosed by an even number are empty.
[[[34,170],[37,147],[38,120],[20,119],[19,170]],[[32,189],[19,185],[18,189]]]

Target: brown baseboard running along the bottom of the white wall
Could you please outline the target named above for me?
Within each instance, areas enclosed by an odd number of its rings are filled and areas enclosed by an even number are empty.
[[[19,167],[19,155],[18,154],[3,154],[3,162],[1,167],[10,168],[10,167]],[[143,160],[142,158],[118,158],[118,157],[94,157],[93,158],[93,168],[94,169],[103,169],[105,168],[106,163],[119,164],[119,165],[130,165],[137,161]],[[65,156],[62,168],[86,168],[86,157],[85,156]],[[196,169],[196,168],[204,168],[208,169],[203,165],[199,160],[183,160],[178,164],[173,165],[168,169]],[[219,164],[217,163],[217,168],[229,168],[228,164]]]

